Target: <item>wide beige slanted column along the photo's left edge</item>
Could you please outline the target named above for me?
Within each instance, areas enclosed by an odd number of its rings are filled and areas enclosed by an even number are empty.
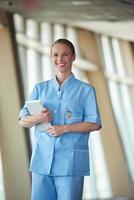
[[[0,29],[0,146],[5,193],[6,199],[29,200],[30,177],[25,132],[18,125],[22,88],[15,54],[13,19],[12,15],[6,15],[7,27]]]

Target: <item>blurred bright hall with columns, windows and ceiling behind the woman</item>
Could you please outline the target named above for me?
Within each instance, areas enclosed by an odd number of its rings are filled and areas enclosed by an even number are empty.
[[[103,128],[91,133],[83,200],[134,199],[134,1],[0,1],[0,200],[30,200],[32,129],[18,114],[54,77],[50,46],[75,46],[75,76],[96,88]]]

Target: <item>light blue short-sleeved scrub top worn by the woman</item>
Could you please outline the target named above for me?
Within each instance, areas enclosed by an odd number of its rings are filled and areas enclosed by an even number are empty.
[[[52,125],[92,122],[101,125],[95,89],[72,74],[59,86],[56,78],[37,83],[28,100],[40,99],[52,113]],[[20,118],[29,115],[26,105]],[[89,132],[68,132],[53,137],[48,132],[34,131],[35,145],[30,171],[54,176],[90,174]]]

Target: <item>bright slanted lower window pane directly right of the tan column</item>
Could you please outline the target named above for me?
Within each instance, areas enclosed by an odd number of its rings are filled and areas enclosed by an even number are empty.
[[[111,96],[111,101],[112,101],[116,121],[120,130],[122,142],[125,148],[125,154],[128,160],[130,171],[133,176],[134,175],[133,174],[134,172],[133,145],[131,144],[133,143],[133,140],[131,141],[130,137],[128,137],[129,125],[127,122],[128,119],[127,119],[126,111],[123,106],[121,90],[120,90],[119,85],[113,81],[109,81],[109,89],[110,89],[110,96]]]

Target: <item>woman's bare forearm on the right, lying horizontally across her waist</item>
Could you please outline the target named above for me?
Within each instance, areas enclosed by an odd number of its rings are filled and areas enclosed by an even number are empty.
[[[92,132],[97,131],[101,128],[99,124],[90,122],[81,122],[76,124],[66,124],[64,125],[64,132]]]

